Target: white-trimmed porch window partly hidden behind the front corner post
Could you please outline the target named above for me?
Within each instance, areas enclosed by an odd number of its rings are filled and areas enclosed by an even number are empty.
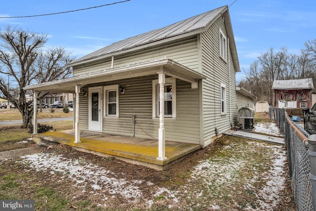
[[[159,84],[153,80],[153,118],[159,117]],[[176,79],[166,78],[164,84],[164,117],[176,118]]]

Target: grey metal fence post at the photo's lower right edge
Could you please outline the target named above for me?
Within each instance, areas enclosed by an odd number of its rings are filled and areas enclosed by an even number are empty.
[[[308,137],[308,157],[311,165],[313,211],[316,211],[316,134]]]

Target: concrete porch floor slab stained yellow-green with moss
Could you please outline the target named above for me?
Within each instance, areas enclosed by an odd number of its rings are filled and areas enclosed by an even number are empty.
[[[55,142],[73,146],[83,152],[164,170],[181,161],[191,153],[199,150],[199,144],[188,144],[174,141],[165,142],[166,159],[157,159],[158,140],[137,137],[110,135],[100,132],[81,131],[80,142],[75,142],[75,130],[62,130],[33,134],[35,142]]]

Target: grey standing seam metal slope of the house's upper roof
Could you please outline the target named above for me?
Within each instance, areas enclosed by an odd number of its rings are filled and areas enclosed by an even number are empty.
[[[165,40],[167,38],[172,38],[175,36],[179,36],[182,34],[187,34],[190,32],[195,32],[202,29],[206,29],[206,27],[219,15],[224,13],[228,9],[227,6],[222,6],[217,9],[213,9],[211,11],[199,14],[197,16],[188,18],[186,20],[171,24],[169,26],[156,29],[147,33],[143,33],[141,35],[137,35],[131,38],[127,38],[122,41],[115,42],[108,46],[105,46],[99,50],[96,50],[88,55],[85,55],[79,59],[76,59],[73,62],[67,64],[67,66],[73,66],[77,63],[81,63],[83,61],[87,61],[90,59],[98,58],[101,56],[111,56],[117,52],[124,52],[128,49],[135,48],[137,46],[141,46],[144,44],[157,42],[160,40]]]

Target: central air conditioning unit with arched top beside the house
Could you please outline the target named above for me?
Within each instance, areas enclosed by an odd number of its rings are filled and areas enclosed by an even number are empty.
[[[242,130],[253,130],[255,112],[252,108],[242,107],[237,114],[239,128]]]

